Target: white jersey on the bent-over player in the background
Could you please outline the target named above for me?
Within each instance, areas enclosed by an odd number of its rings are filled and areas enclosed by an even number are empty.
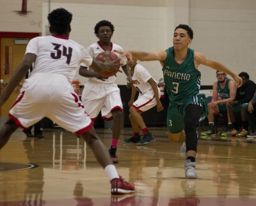
[[[151,78],[151,74],[140,64],[136,64],[134,68],[134,74],[132,75],[132,81],[135,88],[140,92],[139,95],[143,95],[148,90],[152,89],[148,80]],[[154,80],[154,79],[153,79]],[[156,83],[157,81],[154,80]]]

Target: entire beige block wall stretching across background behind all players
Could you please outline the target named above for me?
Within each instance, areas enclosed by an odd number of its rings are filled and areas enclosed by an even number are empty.
[[[247,72],[256,82],[255,0],[0,0],[0,31],[46,34],[49,10],[64,7],[74,14],[70,38],[87,47],[97,41],[93,27],[102,19],[115,26],[112,41],[123,49],[154,52],[172,46],[174,28],[189,24],[194,31],[190,48],[220,61],[234,72]],[[158,62],[142,62],[152,76],[163,77]],[[199,66],[202,85],[212,85],[215,71]],[[86,78],[76,77],[82,83]],[[117,84],[125,84],[119,74]]]

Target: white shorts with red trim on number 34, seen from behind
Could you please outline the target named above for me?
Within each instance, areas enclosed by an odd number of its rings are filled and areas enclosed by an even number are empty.
[[[22,128],[48,117],[76,134],[93,126],[73,86],[61,74],[36,73],[26,79],[9,117]]]

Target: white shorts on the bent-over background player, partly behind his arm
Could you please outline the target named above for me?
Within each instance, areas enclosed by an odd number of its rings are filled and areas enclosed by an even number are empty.
[[[158,94],[160,98],[161,93],[159,88],[158,88]],[[137,109],[139,112],[145,112],[156,105],[157,105],[157,101],[154,96],[153,89],[150,89],[143,95],[139,95],[138,99],[132,104],[132,107]]]

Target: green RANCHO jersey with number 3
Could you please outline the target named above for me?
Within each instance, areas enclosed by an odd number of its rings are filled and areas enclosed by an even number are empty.
[[[174,49],[166,49],[167,57],[163,63],[163,77],[171,103],[184,103],[199,93],[201,72],[195,69],[194,50],[188,48],[186,59],[178,65]]]

